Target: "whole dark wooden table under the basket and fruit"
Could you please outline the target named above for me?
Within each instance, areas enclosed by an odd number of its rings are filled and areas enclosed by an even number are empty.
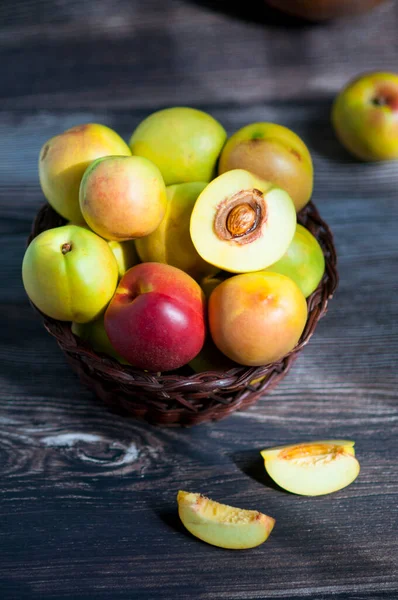
[[[333,97],[398,64],[398,8],[325,25],[261,3],[2,0],[0,4],[0,598],[395,600],[398,163],[360,164],[336,142]],[[229,132],[293,128],[315,164],[341,283],[279,387],[245,412],[160,429],[82,389],[30,308],[21,261],[43,201],[42,143],[88,121],[126,139],[166,105]],[[352,438],[361,474],[335,494],[269,487],[264,446]],[[187,534],[179,488],[257,508],[269,541],[232,552]]]

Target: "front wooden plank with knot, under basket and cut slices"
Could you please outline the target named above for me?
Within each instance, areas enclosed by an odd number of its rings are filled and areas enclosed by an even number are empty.
[[[146,112],[1,114],[5,139],[17,144],[1,151],[7,235],[0,276],[7,286],[0,316],[0,448],[7,551],[0,573],[11,573],[18,593],[27,586],[51,597],[60,582],[71,595],[95,589],[98,598],[110,589],[114,597],[135,589],[138,598],[180,593],[254,599],[266,589],[269,598],[344,598],[355,592],[374,600],[375,591],[397,590],[398,335],[391,325],[398,301],[391,290],[397,282],[392,192],[398,173],[392,165],[349,159],[333,141],[323,103],[209,108],[229,131],[272,115],[304,137],[312,115],[323,115],[307,137],[318,204],[336,237],[341,285],[313,340],[270,396],[226,421],[189,431],[123,420],[81,389],[28,306],[20,279],[24,240],[42,201],[40,145],[90,120],[110,124],[127,139]],[[26,193],[19,196],[20,190]],[[362,464],[358,482],[315,500],[269,487],[258,451],[313,437],[355,439]],[[180,487],[264,510],[276,516],[275,532],[251,553],[205,546],[178,525]],[[382,534],[371,539],[370,528]],[[22,564],[23,572],[12,575]]]

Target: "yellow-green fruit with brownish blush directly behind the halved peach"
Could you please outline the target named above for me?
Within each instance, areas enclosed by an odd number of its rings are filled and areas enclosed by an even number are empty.
[[[314,172],[303,140],[275,123],[252,123],[227,141],[218,172],[245,169],[286,190],[299,211],[311,198]]]

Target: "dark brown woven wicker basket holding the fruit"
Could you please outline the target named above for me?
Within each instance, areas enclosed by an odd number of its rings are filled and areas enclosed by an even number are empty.
[[[336,289],[336,252],[329,227],[312,203],[301,211],[298,220],[321,244],[326,270],[318,288],[307,300],[308,319],[298,345],[277,363],[263,367],[238,367],[224,373],[206,371],[192,374],[189,367],[184,367],[172,373],[150,374],[122,366],[104,354],[95,353],[73,335],[70,323],[56,321],[40,313],[44,326],[56,338],[81,382],[118,412],[163,426],[190,426],[226,417],[256,402],[286,375],[314,333],[319,319],[326,313],[328,301]],[[64,219],[48,204],[44,205],[33,223],[28,244],[42,231],[64,223]],[[250,383],[256,380],[257,383]]]

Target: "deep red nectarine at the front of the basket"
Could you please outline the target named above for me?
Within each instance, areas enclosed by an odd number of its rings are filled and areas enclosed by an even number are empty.
[[[121,279],[105,313],[105,330],[117,352],[135,367],[178,369],[203,346],[204,294],[176,267],[141,263]]]

